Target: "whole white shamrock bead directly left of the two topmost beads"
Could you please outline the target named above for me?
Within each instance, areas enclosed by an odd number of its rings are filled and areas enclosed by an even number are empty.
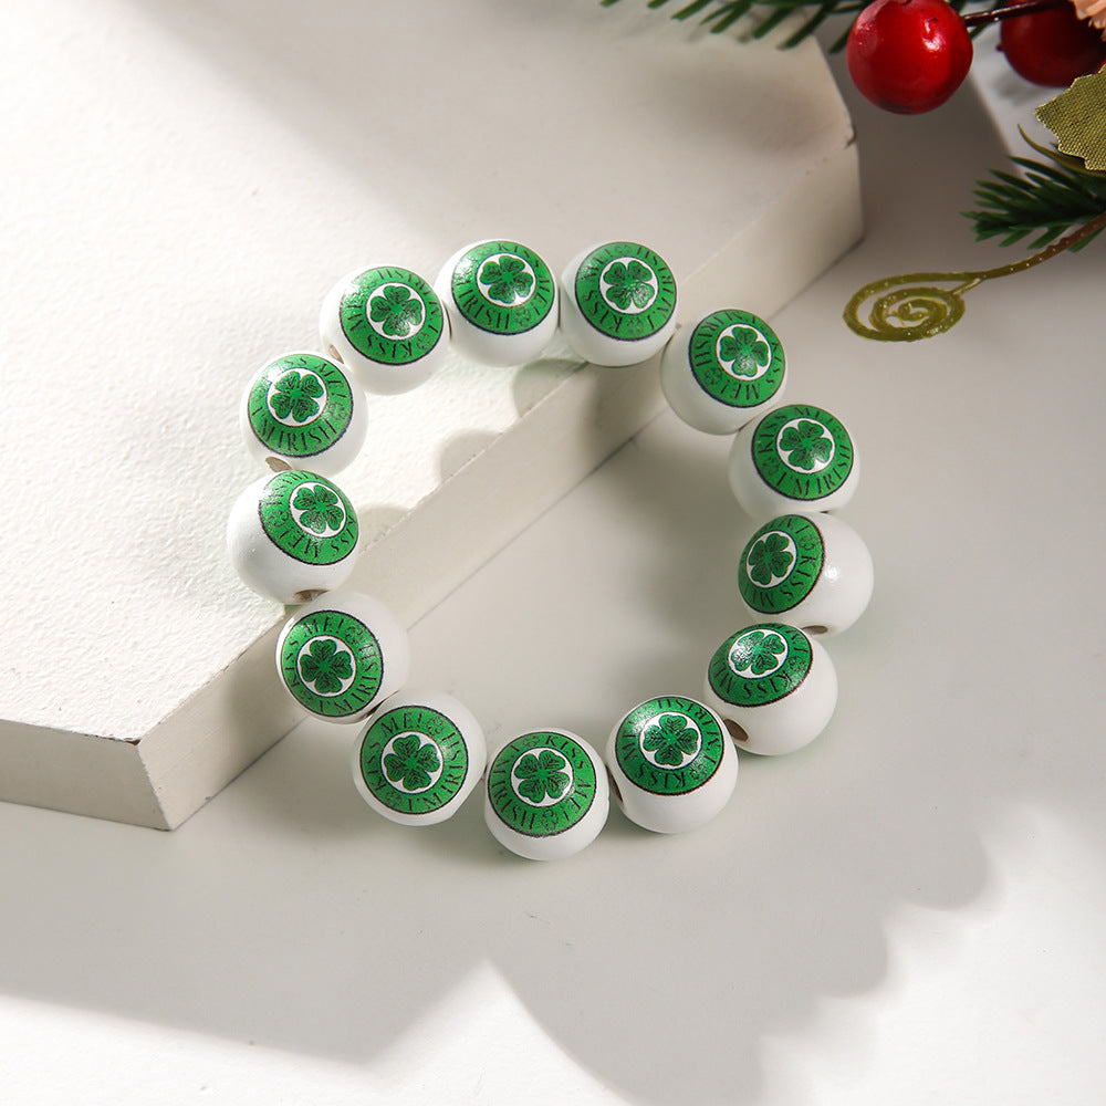
[[[395,395],[430,378],[449,349],[449,319],[434,289],[398,265],[358,269],[323,301],[319,333],[368,392]]]

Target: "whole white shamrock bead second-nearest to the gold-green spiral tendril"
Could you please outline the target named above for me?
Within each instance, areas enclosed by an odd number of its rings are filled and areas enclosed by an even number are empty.
[[[741,429],[730,449],[730,487],[754,519],[844,507],[860,460],[848,430],[821,407],[785,404]]]

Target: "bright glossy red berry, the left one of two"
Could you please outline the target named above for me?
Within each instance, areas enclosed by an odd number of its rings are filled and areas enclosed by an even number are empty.
[[[901,115],[943,104],[968,75],[971,55],[968,29],[945,0],[876,0],[845,46],[856,87]]]

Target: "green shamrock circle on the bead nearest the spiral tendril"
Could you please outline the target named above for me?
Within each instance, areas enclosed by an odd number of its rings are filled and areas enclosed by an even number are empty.
[[[763,319],[728,307],[701,320],[688,340],[691,375],[711,399],[757,407],[783,384],[783,346]]]

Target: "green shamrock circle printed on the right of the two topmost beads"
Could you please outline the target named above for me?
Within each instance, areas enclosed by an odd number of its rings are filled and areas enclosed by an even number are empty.
[[[608,242],[580,263],[580,313],[601,334],[634,342],[653,337],[676,310],[676,278],[659,253],[636,242]]]

